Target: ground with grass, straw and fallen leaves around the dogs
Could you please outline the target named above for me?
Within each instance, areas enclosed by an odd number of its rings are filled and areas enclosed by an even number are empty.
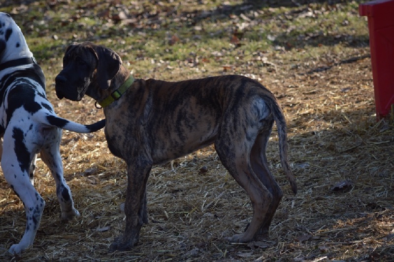
[[[109,152],[102,130],[64,132],[64,173],[81,217],[60,219],[54,180],[38,160],[35,187],[46,201],[40,227],[31,248],[7,253],[26,220],[0,175],[0,261],[393,261],[393,116],[376,120],[367,22],[358,4],[5,0],[0,11],[25,32],[56,112],[77,122],[103,114],[90,98],[56,98],[54,77],[72,41],[113,48],[135,77],[258,79],[285,113],[298,193],[279,163],[275,127],[267,156],[284,197],[270,236],[225,241],[244,230],[252,207],[210,146],[152,169],[149,224],[139,244],[109,253],[125,227],[126,165]]]

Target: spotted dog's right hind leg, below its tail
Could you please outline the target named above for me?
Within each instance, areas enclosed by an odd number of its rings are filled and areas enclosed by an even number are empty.
[[[79,217],[79,212],[74,208],[74,202],[72,201],[71,190],[66,184],[66,180],[63,177],[63,163],[60,155],[60,140],[61,131],[60,129],[54,129],[52,136],[54,140],[43,147],[41,150],[41,159],[48,166],[51,174],[56,182],[56,195],[59,199],[60,209],[62,211],[62,219],[68,220],[72,217]]]

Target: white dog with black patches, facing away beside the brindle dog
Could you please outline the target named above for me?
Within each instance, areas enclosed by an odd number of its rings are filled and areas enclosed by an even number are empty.
[[[33,187],[36,154],[49,167],[56,182],[62,219],[79,216],[63,177],[60,155],[62,129],[90,133],[103,128],[105,119],[82,125],[54,112],[45,94],[45,77],[29,50],[25,37],[10,15],[0,12],[0,137],[1,168],[10,187],[22,200],[26,230],[19,244],[9,249],[20,253],[33,244],[44,199]]]

